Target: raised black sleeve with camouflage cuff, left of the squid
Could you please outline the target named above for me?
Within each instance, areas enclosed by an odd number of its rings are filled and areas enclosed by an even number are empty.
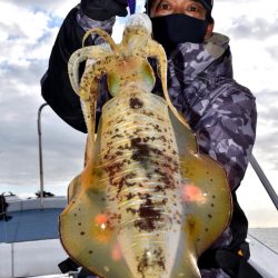
[[[113,23],[115,18],[96,21],[85,16],[79,6],[73,8],[59,30],[48,70],[41,79],[41,93],[48,105],[67,123],[82,132],[87,132],[87,128],[79,97],[72,90],[69,81],[68,60],[77,49],[82,47],[82,39],[88,29],[98,27],[111,33]],[[88,44],[100,42],[97,37],[92,37]]]

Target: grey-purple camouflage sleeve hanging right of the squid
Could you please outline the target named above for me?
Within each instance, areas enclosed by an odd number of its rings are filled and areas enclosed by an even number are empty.
[[[255,97],[235,81],[221,86],[211,96],[195,127],[197,140],[200,151],[224,166],[229,185],[236,190],[245,176],[255,142]]]

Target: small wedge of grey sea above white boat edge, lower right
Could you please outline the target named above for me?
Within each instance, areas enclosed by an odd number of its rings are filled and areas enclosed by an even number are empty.
[[[278,228],[250,228],[249,234],[278,254]]]

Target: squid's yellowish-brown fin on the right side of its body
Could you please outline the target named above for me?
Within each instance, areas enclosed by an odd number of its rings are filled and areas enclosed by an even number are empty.
[[[200,256],[225,230],[231,215],[227,176],[219,162],[198,153],[192,131],[169,110],[180,158],[185,231]]]

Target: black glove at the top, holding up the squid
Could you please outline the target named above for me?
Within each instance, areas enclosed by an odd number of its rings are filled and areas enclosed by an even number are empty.
[[[111,17],[126,17],[127,0],[81,0],[83,13],[95,20],[103,21]]]

